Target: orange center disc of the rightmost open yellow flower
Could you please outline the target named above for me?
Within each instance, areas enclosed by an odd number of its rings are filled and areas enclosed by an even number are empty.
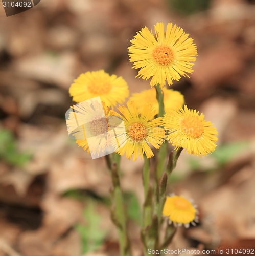
[[[181,121],[181,131],[193,138],[199,138],[204,133],[203,122],[199,116],[185,117]]]

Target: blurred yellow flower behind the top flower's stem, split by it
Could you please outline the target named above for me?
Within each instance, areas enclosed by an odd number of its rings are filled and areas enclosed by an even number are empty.
[[[183,95],[172,89],[167,89],[166,87],[161,89],[164,93],[164,106],[165,111],[170,110],[178,110],[184,104]],[[130,100],[134,101],[137,105],[138,111],[143,109],[145,103],[151,103],[153,108],[156,110],[156,114],[158,114],[158,102],[156,99],[156,90],[155,88],[151,88],[149,90],[144,90],[141,93],[133,93]]]

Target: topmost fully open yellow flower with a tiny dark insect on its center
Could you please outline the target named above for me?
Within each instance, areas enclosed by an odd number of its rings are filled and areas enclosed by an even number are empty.
[[[191,61],[196,60],[197,48],[189,34],[172,23],[168,23],[166,32],[163,22],[154,25],[154,30],[155,34],[142,28],[128,49],[133,68],[140,69],[137,76],[144,80],[152,77],[150,86],[159,83],[161,88],[166,80],[173,84],[173,80],[179,81],[180,76],[193,72]]]

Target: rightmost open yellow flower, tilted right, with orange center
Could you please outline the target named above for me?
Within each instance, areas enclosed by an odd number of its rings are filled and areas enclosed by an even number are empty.
[[[203,113],[199,115],[199,111],[184,105],[184,109],[167,112],[163,122],[165,129],[169,130],[167,140],[176,151],[183,147],[188,154],[201,157],[215,150],[218,132],[210,121],[204,120]]]

